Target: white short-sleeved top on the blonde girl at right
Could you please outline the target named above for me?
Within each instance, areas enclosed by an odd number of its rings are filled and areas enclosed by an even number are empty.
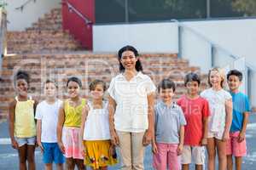
[[[230,93],[224,89],[216,91],[208,88],[201,93],[201,97],[207,99],[210,106],[208,131],[213,133],[224,132],[226,121],[225,103],[228,99],[232,99]]]

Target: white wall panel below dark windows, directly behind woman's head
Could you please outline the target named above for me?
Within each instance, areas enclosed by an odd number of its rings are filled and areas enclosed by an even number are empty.
[[[130,44],[140,52],[177,54],[177,26],[172,23],[93,26],[93,50],[117,52]]]

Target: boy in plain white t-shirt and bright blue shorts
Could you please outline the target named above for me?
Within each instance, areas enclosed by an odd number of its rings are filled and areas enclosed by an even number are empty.
[[[58,112],[62,104],[60,99],[56,99],[56,90],[55,82],[47,80],[44,84],[46,99],[38,104],[36,110],[38,146],[43,152],[43,161],[47,170],[53,168],[53,161],[57,169],[61,170],[64,162],[56,135]]]

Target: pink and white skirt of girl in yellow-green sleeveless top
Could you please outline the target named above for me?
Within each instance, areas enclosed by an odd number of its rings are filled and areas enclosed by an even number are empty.
[[[63,127],[62,142],[65,147],[65,157],[84,160],[79,132],[79,127]]]

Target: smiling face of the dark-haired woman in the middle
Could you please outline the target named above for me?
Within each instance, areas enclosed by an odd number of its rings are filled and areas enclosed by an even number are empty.
[[[120,62],[125,67],[125,70],[132,70],[135,68],[137,57],[132,51],[125,51],[122,54]]]

